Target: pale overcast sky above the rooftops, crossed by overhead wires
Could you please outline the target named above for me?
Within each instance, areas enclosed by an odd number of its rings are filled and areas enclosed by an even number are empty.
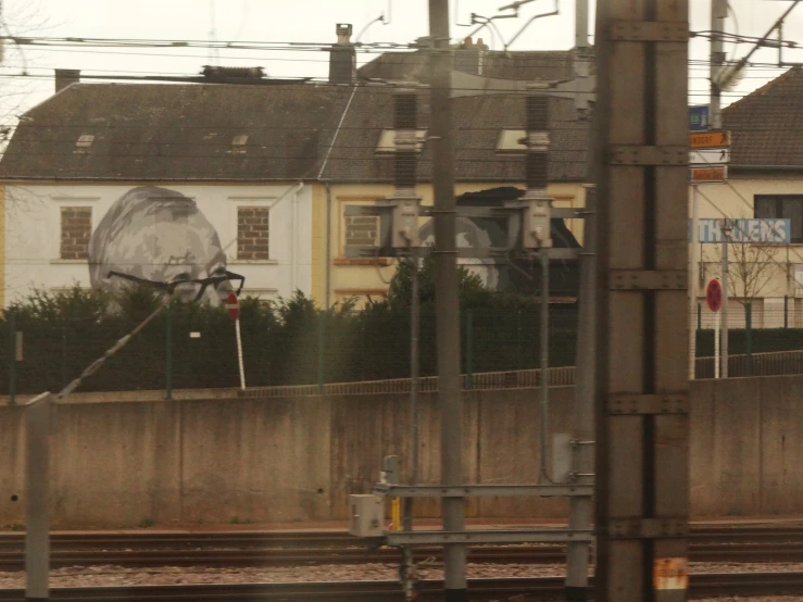
[[[518,20],[498,21],[505,39],[510,39],[530,16],[549,12],[557,3],[560,15],[535,21],[511,47],[512,50],[567,49],[574,42],[574,0],[536,0],[524,7]],[[736,20],[729,18],[729,32],[763,35],[771,23],[790,5],[785,0],[730,0]],[[136,38],[170,40],[209,40],[214,13],[217,40],[330,42],[335,40],[335,24],[352,23],[354,34],[380,14],[387,24],[377,23],[363,35],[364,42],[410,42],[427,35],[427,0],[4,0],[5,20],[13,35],[52,37]],[[461,27],[470,13],[485,16],[507,0],[452,0],[452,37],[461,38],[473,28]],[[710,0],[690,0],[691,28],[710,28]],[[593,23],[593,22],[592,22]],[[591,27],[593,29],[593,25]],[[785,36],[799,40],[803,34],[803,8],[796,9],[787,22]],[[479,34],[494,49],[502,48],[488,29]],[[803,40],[801,40],[803,41]],[[739,57],[749,46],[728,46],[729,57]],[[204,64],[263,66],[271,76],[327,75],[328,57],[324,52],[243,51],[221,52],[217,59],[209,50],[160,49],[53,49],[35,51],[7,49],[7,75],[17,74],[27,66],[39,77],[4,77],[7,95],[11,91],[20,109],[29,108],[53,90],[54,67],[80,68],[98,74],[180,74],[199,72]],[[706,60],[708,43],[692,40],[691,58]],[[362,63],[374,54],[360,54]],[[755,61],[771,62],[775,50],[762,50]],[[787,51],[787,60],[803,61],[803,51]],[[707,67],[692,65],[690,102],[707,101]],[[777,76],[778,70],[752,68],[733,93],[732,101]],[[15,111],[20,114],[22,111]]]

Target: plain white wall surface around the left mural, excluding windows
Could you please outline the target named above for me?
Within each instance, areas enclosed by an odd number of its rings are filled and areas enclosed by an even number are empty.
[[[89,287],[86,261],[60,259],[61,208],[91,206],[92,230],[136,184],[9,185],[5,220],[5,304],[33,287]],[[159,185],[196,201],[226,250],[228,269],[246,277],[244,294],[263,299],[311,292],[312,189],[298,185]],[[277,202],[277,199],[285,195]],[[293,203],[297,203],[293,218]],[[269,260],[237,260],[237,206],[269,206]],[[294,227],[293,227],[294,221]],[[293,253],[293,239],[296,251]],[[226,248],[226,246],[228,246]]]

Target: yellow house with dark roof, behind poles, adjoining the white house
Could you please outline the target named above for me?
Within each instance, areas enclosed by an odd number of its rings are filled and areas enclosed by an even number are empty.
[[[418,96],[419,146],[417,195],[432,204],[431,156],[426,133],[428,90]],[[500,187],[524,190],[524,95],[492,95],[454,99],[455,195]],[[550,186],[555,206],[582,208],[588,124],[577,116],[570,99],[553,98],[550,115]],[[378,221],[346,215],[351,204],[369,205],[393,195],[393,88],[355,88],[335,143],[316,184],[313,233],[313,294],[323,306],[350,298],[381,298],[396,271],[396,261],[355,259],[349,247],[376,247]],[[423,225],[427,220],[421,218]],[[574,237],[582,239],[582,220],[567,220]],[[476,262],[477,260],[475,260]],[[472,263],[470,260],[465,263]],[[481,262],[480,262],[481,263]]]

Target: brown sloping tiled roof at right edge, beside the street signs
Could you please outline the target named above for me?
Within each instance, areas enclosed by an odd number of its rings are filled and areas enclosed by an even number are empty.
[[[803,70],[793,67],[723,111],[731,165],[803,166]]]

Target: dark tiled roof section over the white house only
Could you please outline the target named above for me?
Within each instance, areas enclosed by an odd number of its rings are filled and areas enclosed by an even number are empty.
[[[317,174],[351,88],[74,84],[23,117],[0,177],[298,179]],[[95,139],[76,148],[80,136]],[[246,135],[236,149],[236,136]]]

